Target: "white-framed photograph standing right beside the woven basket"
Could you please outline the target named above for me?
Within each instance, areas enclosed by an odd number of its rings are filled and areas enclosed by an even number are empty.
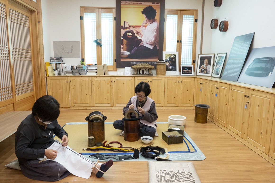
[[[178,75],[178,51],[162,52],[166,64],[166,75]]]

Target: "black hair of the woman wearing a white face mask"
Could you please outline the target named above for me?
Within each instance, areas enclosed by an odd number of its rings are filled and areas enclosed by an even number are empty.
[[[59,117],[60,104],[51,95],[44,95],[37,99],[32,106],[32,115],[38,116],[40,120],[55,121]]]

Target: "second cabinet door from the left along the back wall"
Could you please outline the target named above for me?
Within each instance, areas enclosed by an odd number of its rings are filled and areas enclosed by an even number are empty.
[[[71,107],[92,106],[91,77],[70,77],[70,101]]]

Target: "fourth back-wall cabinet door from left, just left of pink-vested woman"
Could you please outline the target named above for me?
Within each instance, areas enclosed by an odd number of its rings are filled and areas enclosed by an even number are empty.
[[[135,95],[134,77],[113,77],[114,106],[126,106]]]

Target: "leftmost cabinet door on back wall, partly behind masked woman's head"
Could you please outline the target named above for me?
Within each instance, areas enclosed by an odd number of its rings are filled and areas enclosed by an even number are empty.
[[[47,77],[48,95],[53,96],[60,107],[70,107],[69,77]]]

